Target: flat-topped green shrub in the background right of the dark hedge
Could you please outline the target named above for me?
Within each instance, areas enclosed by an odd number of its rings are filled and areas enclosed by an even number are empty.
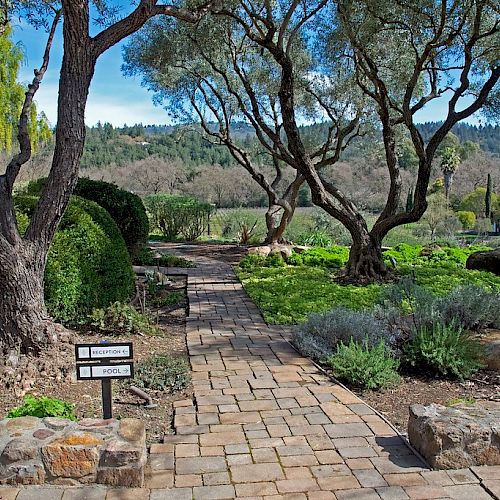
[[[144,201],[152,225],[171,240],[181,234],[188,241],[201,236],[214,210],[210,203],[189,196],[152,194]]]

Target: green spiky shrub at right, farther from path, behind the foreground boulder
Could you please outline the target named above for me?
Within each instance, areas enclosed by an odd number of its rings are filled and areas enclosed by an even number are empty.
[[[482,366],[484,350],[470,333],[441,322],[416,330],[405,348],[405,359],[422,373],[470,378]]]

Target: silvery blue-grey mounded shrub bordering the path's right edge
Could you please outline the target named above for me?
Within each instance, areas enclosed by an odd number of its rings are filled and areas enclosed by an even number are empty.
[[[382,321],[368,311],[352,311],[343,307],[324,314],[311,314],[293,333],[293,342],[299,351],[317,361],[331,356],[340,342],[351,340],[374,347],[383,339],[389,345],[393,338]]]

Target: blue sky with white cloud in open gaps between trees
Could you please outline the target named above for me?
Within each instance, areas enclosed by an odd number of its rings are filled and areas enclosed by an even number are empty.
[[[20,80],[32,79],[33,69],[39,67],[45,47],[47,34],[43,30],[35,30],[25,22],[17,22],[14,41],[21,44],[26,60],[20,71]],[[85,122],[95,125],[98,121],[109,122],[114,126],[125,123],[132,125],[170,124],[166,111],[154,106],[149,93],[141,87],[139,78],[126,78],[121,73],[122,47],[126,43],[116,45],[101,56],[97,63],[95,76],[90,88]],[[37,92],[38,109],[44,111],[52,125],[57,116],[57,89],[62,57],[62,29],[59,26],[54,41],[49,69]],[[445,103],[433,102],[417,115],[417,121],[439,121],[444,118]],[[479,123],[477,119],[468,120]]]

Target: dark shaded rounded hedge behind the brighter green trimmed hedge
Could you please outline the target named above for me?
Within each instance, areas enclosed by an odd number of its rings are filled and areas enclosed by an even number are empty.
[[[46,177],[31,181],[26,194],[40,196],[46,182]],[[148,239],[149,220],[139,196],[109,182],[94,181],[86,177],[78,179],[73,194],[95,201],[109,212],[132,258],[141,252]]]

